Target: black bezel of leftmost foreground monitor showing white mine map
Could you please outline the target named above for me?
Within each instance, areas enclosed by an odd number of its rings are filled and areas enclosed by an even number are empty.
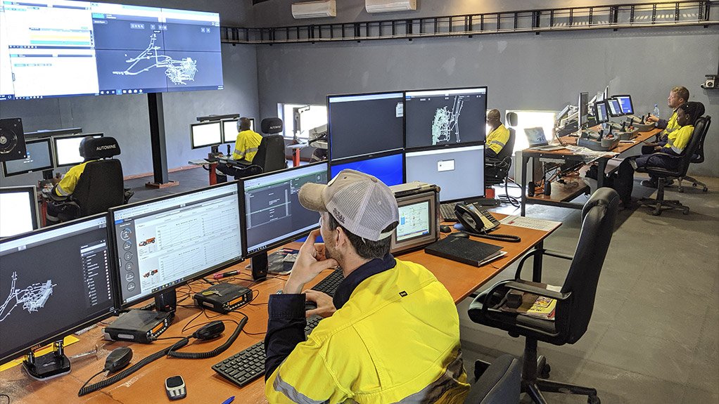
[[[2,240],[0,240],[0,243],[8,243],[8,242],[12,242],[12,241],[14,241],[14,240],[17,240],[17,239],[19,239],[19,238],[34,236],[34,235],[37,235],[37,234],[41,234],[41,233],[43,233],[43,232],[49,232],[49,231],[53,231],[53,230],[58,230],[58,229],[60,229],[60,228],[62,228],[62,227],[68,227],[68,226],[76,225],[76,224],[78,224],[78,223],[80,223],[80,222],[84,222],[84,221],[88,221],[88,222],[89,222],[89,221],[92,221],[92,220],[97,220],[97,219],[99,219],[100,217],[105,217],[105,220],[106,220],[106,222],[105,222],[105,230],[106,230],[106,232],[107,232],[107,236],[108,236],[108,240],[109,240],[110,235],[109,235],[108,229],[109,229],[109,227],[110,227],[110,225],[109,225],[109,220],[110,220],[110,219],[109,219],[109,217],[108,217],[108,215],[107,215],[106,213],[100,213],[100,214],[98,214],[98,215],[92,215],[92,216],[88,216],[88,217],[81,217],[80,219],[71,220],[70,222],[62,222],[62,223],[60,223],[60,224],[58,224],[58,225],[52,225],[52,226],[49,226],[49,227],[41,227],[41,228],[38,229],[38,230],[33,230],[32,232],[25,232],[25,233],[22,233],[22,234],[19,234],[19,235],[14,235],[14,236],[9,237],[9,238],[3,238]],[[70,327],[67,328],[67,329],[63,329],[62,331],[55,332],[55,333],[52,333],[52,334],[50,334],[50,335],[45,335],[45,336],[41,337],[40,339],[35,339],[35,340],[32,341],[32,344],[26,344],[26,345],[24,345],[22,348],[16,349],[16,350],[14,350],[13,352],[10,352],[10,353],[6,354],[5,357],[0,357],[0,365],[1,365],[1,364],[4,364],[4,363],[6,363],[6,362],[9,362],[9,361],[11,361],[11,360],[14,360],[15,358],[21,356],[22,354],[27,354],[27,353],[31,352],[31,351],[33,350],[33,348],[35,348],[35,347],[42,347],[42,346],[45,346],[46,344],[48,344],[48,343],[50,343],[50,342],[55,342],[55,341],[58,341],[58,340],[60,340],[60,339],[63,339],[64,337],[67,337],[68,335],[73,334],[73,332],[76,332],[76,331],[78,331],[78,330],[80,330],[80,329],[83,329],[83,328],[86,328],[86,327],[88,327],[88,326],[91,326],[91,325],[93,325],[93,324],[96,324],[98,321],[102,321],[102,320],[104,320],[104,319],[107,319],[107,318],[109,318],[109,317],[114,316],[114,315],[117,314],[117,311],[118,311],[118,306],[117,306],[117,304],[118,304],[118,299],[117,299],[117,297],[118,297],[118,296],[117,296],[116,293],[117,293],[117,291],[118,291],[118,288],[116,287],[116,286],[117,286],[117,285],[116,285],[116,278],[113,276],[113,274],[117,272],[117,271],[116,271],[116,260],[113,259],[113,258],[115,257],[115,252],[114,252],[114,248],[112,248],[111,245],[108,246],[108,249],[109,249],[109,255],[110,255],[110,258],[111,258],[111,259],[110,259],[111,262],[108,264],[108,265],[109,265],[109,268],[110,268],[110,273],[111,273],[110,276],[108,276],[108,281],[110,282],[111,291],[112,291],[113,293],[115,293],[113,296],[111,296],[111,300],[112,300],[112,308],[111,308],[111,310],[110,310],[110,311],[107,311],[107,312],[103,312],[103,313],[98,313],[97,315],[93,315],[93,316],[90,316],[90,317],[86,317],[85,319],[82,319],[82,321],[81,321],[79,324],[74,324],[73,326],[70,326]]]

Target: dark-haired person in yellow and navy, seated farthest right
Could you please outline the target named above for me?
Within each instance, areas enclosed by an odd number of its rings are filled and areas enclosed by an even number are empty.
[[[620,199],[626,205],[633,190],[634,170],[642,166],[663,167],[666,169],[677,169],[679,161],[669,156],[681,156],[689,144],[694,132],[694,121],[698,118],[699,107],[697,103],[684,103],[677,108],[677,124],[672,133],[667,136],[667,142],[663,146],[654,146],[653,153],[642,154],[636,159],[624,159],[619,165],[617,192]],[[641,182],[644,187],[656,188],[658,179],[651,177]]]

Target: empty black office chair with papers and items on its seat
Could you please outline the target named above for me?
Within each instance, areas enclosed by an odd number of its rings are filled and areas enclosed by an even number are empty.
[[[503,329],[512,337],[526,337],[522,391],[528,393],[535,403],[546,403],[540,391],[587,395],[590,404],[600,403],[597,390],[591,387],[546,380],[546,377],[549,377],[549,365],[544,357],[537,357],[537,341],[555,345],[574,344],[587,331],[597,282],[612,239],[618,207],[619,195],[614,189],[597,189],[582,209],[582,230],[574,256],[544,248],[530,251],[521,258],[513,280],[495,284],[489,291],[477,296],[470,305],[469,315],[472,321]],[[525,261],[530,257],[541,259],[543,255],[572,260],[567,278],[564,279],[564,285],[559,292],[550,291],[541,283],[520,278]],[[554,321],[500,310],[499,307],[510,290],[557,299]],[[537,377],[538,374],[544,378]]]

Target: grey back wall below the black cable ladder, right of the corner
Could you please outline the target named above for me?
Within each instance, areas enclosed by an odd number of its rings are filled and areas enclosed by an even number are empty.
[[[718,43],[718,27],[688,27],[258,46],[260,114],[277,103],[324,104],[331,93],[472,85],[487,85],[500,111],[558,110],[610,85],[631,94],[638,113],[659,103],[669,114],[669,89],[684,85],[719,117],[719,90],[699,87],[717,72]],[[693,174],[719,176],[718,127]]]

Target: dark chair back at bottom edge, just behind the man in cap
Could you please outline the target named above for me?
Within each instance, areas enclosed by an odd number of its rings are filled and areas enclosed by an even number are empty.
[[[503,354],[489,366],[480,362],[475,366],[476,382],[464,404],[519,403],[521,373],[519,360],[510,354]]]

